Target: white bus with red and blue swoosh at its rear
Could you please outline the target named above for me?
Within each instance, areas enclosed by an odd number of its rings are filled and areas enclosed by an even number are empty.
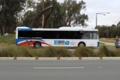
[[[98,29],[80,27],[60,28],[16,28],[16,45],[60,46],[60,47],[97,47],[99,46]]]

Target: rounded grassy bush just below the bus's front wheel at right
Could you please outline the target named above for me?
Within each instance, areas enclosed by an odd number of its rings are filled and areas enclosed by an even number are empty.
[[[87,47],[78,47],[73,53],[76,57],[96,57],[93,49]]]

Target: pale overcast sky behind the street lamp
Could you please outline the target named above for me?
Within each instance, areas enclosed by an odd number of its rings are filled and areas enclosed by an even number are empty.
[[[64,0],[57,0],[63,2]],[[77,0],[79,2],[81,0]],[[83,0],[86,2],[87,10],[84,12],[89,17],[87,22],[89,28],[94,28],[96,25],[96,13],[110,12],[106,16],[98,14],[97,24],[98,25],[117,25],[120,21],[120,0]]]

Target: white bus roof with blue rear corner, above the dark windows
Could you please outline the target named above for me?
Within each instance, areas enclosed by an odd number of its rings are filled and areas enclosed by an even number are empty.
[[[60,27],[60,28],[29,28],[29,27],[17,27],[17,30],[67,30],[67,31],[98,31],[98,29],[89,29],[81,27]]]

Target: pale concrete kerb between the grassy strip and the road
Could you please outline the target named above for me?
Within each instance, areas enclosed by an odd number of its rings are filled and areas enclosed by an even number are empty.
[[[120,57],[81,57],[81,60],[120,60]],[[0,60],[80,60],[79,57],[0,57]]]

